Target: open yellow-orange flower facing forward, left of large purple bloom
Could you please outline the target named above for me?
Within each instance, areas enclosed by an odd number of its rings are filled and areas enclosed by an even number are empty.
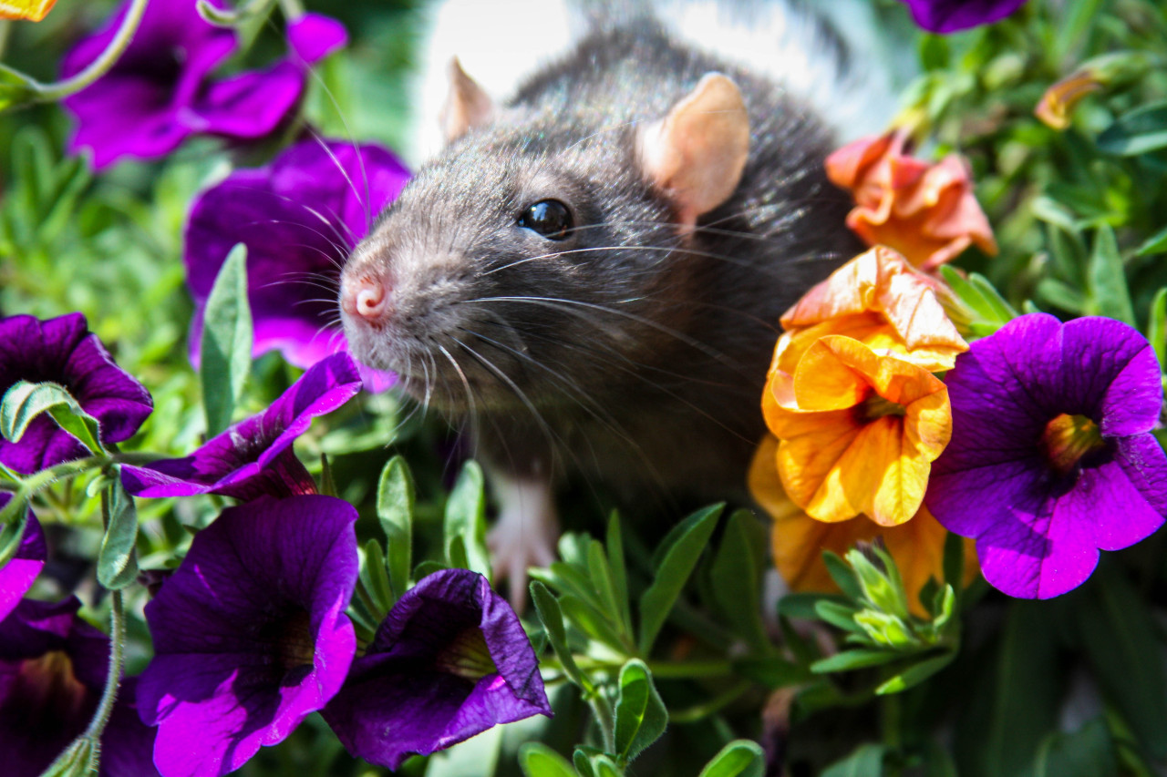
[[[826,522],[859,513],[883,526],[909,520],[952,434],[943,383],[841,335],[816,341],[792,379],[771,372],[762,413],[782,441],[777,468],[787,494]]]

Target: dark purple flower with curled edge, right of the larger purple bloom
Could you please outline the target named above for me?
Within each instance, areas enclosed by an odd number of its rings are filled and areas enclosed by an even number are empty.
[[[323,715],[349,752],[397,769],[537,713],[551,706],[515,611],[482,575],[443,569],[393,606]]]

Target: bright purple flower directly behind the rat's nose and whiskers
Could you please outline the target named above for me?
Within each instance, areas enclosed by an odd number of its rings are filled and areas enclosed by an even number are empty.
[[[247,246],[256,356],[279,350],[306,368],[344,350],[336,306],[340,268],[406,178],[405,166],[379,146],[305,140],[271,166],[236,170],[203,191],[190,210],[184,247],[187,284],[197,306],[191,356],[198,352],[215,276],[236,243]],[[373,391],[393,382],[384,372],[362,374]]]

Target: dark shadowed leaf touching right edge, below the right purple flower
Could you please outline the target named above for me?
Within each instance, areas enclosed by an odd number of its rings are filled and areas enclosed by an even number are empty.
[[[1076,635],[1103,694],[1139,742],[1167,756],[1167,665],[1147,601],[1121,570],[1102,565],[1070,600]]]

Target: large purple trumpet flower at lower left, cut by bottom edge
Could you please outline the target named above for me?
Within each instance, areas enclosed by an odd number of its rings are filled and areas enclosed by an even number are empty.
[[[233,771],[340,690],[356,651],[356,517],[333,497],[265,498],[195,536],[146,606],[138,708],[165,777]]]

